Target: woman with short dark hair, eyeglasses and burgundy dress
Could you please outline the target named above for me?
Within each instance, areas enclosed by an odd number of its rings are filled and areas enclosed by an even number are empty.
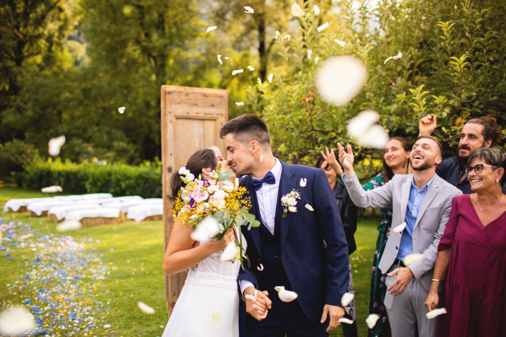
[[[498,149],[482,148],[469,157],[466,173],[476,193],[453,199],[425,301],[429,311],[438,304],[446,308],[447,313],[438,317],[438,336],[504,336],[505,169],[505,156]]]

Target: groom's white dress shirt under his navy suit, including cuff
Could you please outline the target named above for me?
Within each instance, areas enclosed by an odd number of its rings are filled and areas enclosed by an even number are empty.
[[[281,180],[281,162],[274,158],[276,163],[271,169],[272,174],[274,175],[275,183],[268,184],[263,183],[262,187],[260,187],[257,191],[257,201],[258,208],[260,212],[260,216],[262,217],[263,224],[269,229],[271,234],[274,234],[274,223],[276,217],[276,205],[278,203],[278,189],[279,189],[279,181]],[[255,284],[251,283],[248,280],[240,280],[241,285],[241,294],[244,294],[244,290],[248,286],[255,287]]]

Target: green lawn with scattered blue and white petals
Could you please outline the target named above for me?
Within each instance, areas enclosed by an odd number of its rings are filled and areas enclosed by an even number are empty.
[[[3,187],[0,188],[0,206],[13,198],[44,196],[47,195],[37,191]],[[54,324],[51,335],[124,337],[161,335],[167,320],[163,271],[161,270],[163,258],[161,221],[141,223],[127,221],[122,224],[88,227],[78,231],[61,233],[55,229],[56,224],[49,221],[47,217],[35,218],[21,213],[3,213],[0,210],[0,219],[3,219],[4,223],[15,221],[16,223],[29,224],[29,227],[21,224],[16,225],[20,231],[18,235],[21,235],[23,231],[36,233],[33,237],[24,239],[26,243],[24,247],[11,247],[8,253],[6,251],[0,252],[0,261],[2,261],[0,263],[0,308],[9,304],[22,304],[23,301],[30,299],[37,302],[35,298],[38,288],[44,287],[47,290],[53,287],[58,289],[61,284],[66,285],[73,282],[71,285],[78,284],[79,286],[74,291],[77,294],[67,292],[69,295],[64,296],[65,299],[55,296],[54,302],[51,302],[61,305],[61,307],[55,308],[55,311],[59,312],[61,320]],[[355,234],[358,250],[351,256],[359,336],[367,335],[365,318],[369,308],[370,264],[374,252],[378,221],[376,218],[359,221]],[[88,261],[87,266],[97,266],[97,268],[82,270],[82,275],[86,277],[78,281],[70,280],[68,276],[64,276],[63,278],[55,278],[49,283],[43,283],[41,280],[46,282],[48,277],[52,275],[46,271],[48,275],[40,276],[40,274],[44,274],[45,269],[37,273],[37,263],[44,263],[45,259],[50,260],[52,257],[59,259],[57,254],[51,251],[55,249],[54,246],[45,250],[44,245],[48,240],[43,235],[49,235],[49,242],[65,242],[61,249],[65,249],[69,245],[83,246],[83,250],[78,251],[78,254],[69,257],[70,260],[60,262],[61,265],[66,266],[61,267],[64,272],[71,272],[74,269],[71,265],[74,260],[76,261],[75,268],[78,268],[79,263],[84,263],[83,259]],[[46,241],[40,240],[40,237],[44,237]],[[68,244],[69,240],[71,244]],[[30,244],[38,246],[36,249],[30,248]],[[4,254],[9,254],[9,256],[4,256]],[[41,259],[41,262],[33,262],[37,257]],[[28,276],[30,271],[30,277],[25,280],[24,277]],[[97,279],[99,274],[103,277]],[[70,285],[67,290],[69,289],[73,290]],[[53,301],[53,298],[51,300]],[[66,304],[63,303],[64,300],[67,301]],[[148,304],[156,310],[156,313],[154,315],[143,314],[137,308],[137,301]],[[27,304],[27,306],[30,305],[33,305],[33,302]],[[76,307],[81,308],[81,317],[77,319],[67,317],[65,313],[75,311]],[[42,309],[45,313],[49,310],[48,308]],[[91,324],[90,321],[93,321],[94,324]],[[103,328],[105,324],[110,324],[111,327]],[[331,335],[341,336],[341,328],[336,330]]]

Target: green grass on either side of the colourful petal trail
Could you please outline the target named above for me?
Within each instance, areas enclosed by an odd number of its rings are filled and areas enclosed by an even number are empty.
[[[0,206],[14,198],[47,197],[37,191],[21,188],[0,188]],[[31,223],[33,229],[43,234],[61,236],[56,231],[56,224],[47,217],[30,217],[21,213],[2,213],[0,218],[22,223]],[[369,282],[372,256],[375,249],[377,218],[360,219],[355,239],[357,251],[350,257],[353,268],[355,287],[355,304],[357,311],[358,335],[367,335],[365,318],[369,311]],[[163,258],[163,224],[162,221],[136,223],[127,221],[121,224],[82,228],[78,231],[64,233],[74,240],[89,239],[86,242],[91,254],[97,255],[99,261],[108,268],[109,273],[99,285],[91,288],[86,296],[104,303],[99,312],[91,312],[95,317],[97,330],[90,335],[114,336],[160,336],[167,320],[164,299],[164,278],[161,270]],[[0,245],[1,246],[1,245]],[[5,253],[5,252],[2,252]],[[7,284],[11,284],[24,275],[24,263],[33,258],[34,253],[28,249],[13,250],[14,260],[7,260],[0,255],[0,308],[8,303],[21,304],[32,296],[35,290],[23,291],[23,294],[9,294]],[[156,310],[154,315],[144,315],[137,308],[137,301],[142,301]],[[110,324],[110,329],[104,329]],[[60,331],[60,335],[70,335]],[[56,334],[58,335],[58,334]],[[85,335],[85,334],[75,334]],[[342,329],[337,328],[331,336],[342,336]]]

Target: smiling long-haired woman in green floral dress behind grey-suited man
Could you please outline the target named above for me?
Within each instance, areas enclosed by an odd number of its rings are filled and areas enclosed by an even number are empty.
[[[394,174],[407,174],[409,167],[410,149],[406,139],[392,137],[387,143],[383,152],[383,172],[375,176],[371,181],[362,185],[365,190],[374,189],[385,185]],[[385,285],[386,275],[378,268],[379,260],[387,244],[387,233],[392,225],[392,207],[382,208],[383,221],[378,226],[378,237],[376,239],[376,251],[372,260],[371,293],[369,300],[369,314],[377,314],[379,319],[376,325],[369,329],[368,336],[388,336],[390,325],[387,317],[387,310],[383,301],[387,293]]]

